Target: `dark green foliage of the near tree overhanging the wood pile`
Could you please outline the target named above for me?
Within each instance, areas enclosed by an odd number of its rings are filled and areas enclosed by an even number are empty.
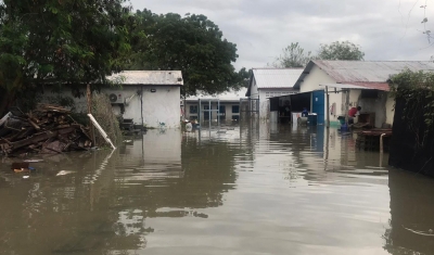
[[[130,49],[125,2],[3,0],[0,113],[41,84],[105,82],[106,75],[119,71]]]

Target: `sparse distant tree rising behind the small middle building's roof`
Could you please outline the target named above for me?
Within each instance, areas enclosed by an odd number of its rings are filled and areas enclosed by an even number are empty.
[[[310,60],[314,59],[311,52],[308,51],[305,53],[305,50],[299,47],[298,42],[291,42],[291,44],[284,48],[282,51],[283,53],[276,59],[275,63],[272,63],[273,67],[304,67]]]

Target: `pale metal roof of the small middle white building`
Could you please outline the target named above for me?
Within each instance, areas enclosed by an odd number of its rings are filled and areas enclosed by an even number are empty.
[[[254,68],[253,76],[258,89],[292,88],[303,68]]]

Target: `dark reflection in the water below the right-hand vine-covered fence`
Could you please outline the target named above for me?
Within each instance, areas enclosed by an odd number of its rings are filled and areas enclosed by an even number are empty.
[[[391,254],[432,254],[434,251],[434,181],[413,173],[390,171],[390,228],[384,248]]]

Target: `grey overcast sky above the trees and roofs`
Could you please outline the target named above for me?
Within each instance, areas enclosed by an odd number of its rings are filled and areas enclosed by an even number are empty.
[[[237,68],[272,63],[291,42],[316,53],[320,43],[349,40],[366,61],[434,55],[421,24],[434,33],[434,0],[130,0],[135,10],[204,14],[237,43]]]

